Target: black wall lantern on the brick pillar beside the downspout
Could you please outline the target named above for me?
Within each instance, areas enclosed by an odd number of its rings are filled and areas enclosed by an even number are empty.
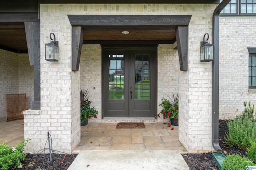
[[[204,34],[204,38],[206,35],[207,35],[207,39],[201,42],[201,57],[200,57],[201,62],[213,61],[214,45],[208,43],[209,34],[208,33]]]

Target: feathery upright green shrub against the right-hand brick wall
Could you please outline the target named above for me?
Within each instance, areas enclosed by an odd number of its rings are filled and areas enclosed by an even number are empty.
[[[228,121],[228,132],[224,137],[225,143],[231,147],[246,149],[251,141],[256,141],[256,124],[250,119],[234,119]]]

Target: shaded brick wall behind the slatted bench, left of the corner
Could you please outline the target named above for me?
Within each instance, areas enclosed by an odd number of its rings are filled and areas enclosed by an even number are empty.
[[[18,93],[17,53],[0,49],[0,118],[6,117],[6,94]]]

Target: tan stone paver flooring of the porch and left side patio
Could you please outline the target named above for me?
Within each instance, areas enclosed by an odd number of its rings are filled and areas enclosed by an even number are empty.
[[[0,119],[0,142],[15,146],[24,140],[22,120]],[[178,150],[186,149],[178,140],[178,127],[163,123],[144,123],[146,128],[116,129],[117,123],[88,123],[81,127],[81,141],[72,153],[80,150]],[[166,128],[167,127],[167,128]],[[43,147],[43,146],[42,146]],[[54,149],[54,148],[53,148]]]

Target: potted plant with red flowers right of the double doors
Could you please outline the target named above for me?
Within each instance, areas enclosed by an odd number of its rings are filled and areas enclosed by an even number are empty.
[[[172,93],[172,98],[169,97],[169,99],[170,100],[165,98],[162,99],[162,103],[159,104],[159,106],[162,106],[162,110],[158,114],[158,117],[160,117],[160,114],[162,114],[164,120],[169,118],[169,122],[171,123],[171,125],[178,126],[179,96],[178,94],[174,95],[174,93]]]

